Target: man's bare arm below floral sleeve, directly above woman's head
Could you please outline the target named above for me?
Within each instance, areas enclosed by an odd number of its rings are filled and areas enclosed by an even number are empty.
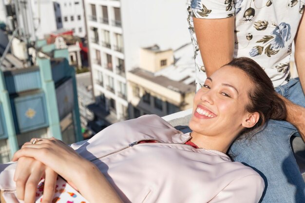
[[[234,17],[193,18],[196,38],[208,77],[233,58],[234,21]]]

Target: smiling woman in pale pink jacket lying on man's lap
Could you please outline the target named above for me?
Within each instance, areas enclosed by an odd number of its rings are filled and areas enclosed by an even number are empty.
[[[43,201],[51,202],[59,174],[90,203],[258,203],[263,179],[226,152],[245,129],[285,114],[263,69],[251,59],[234,59],[196,93],[191,133],[145,115],[72,148],[54,138],[28,142],[14,155],[16,171],[11,166],[0,173],[0,187],[7,203],[18,202],[15,194],[33,203],[45,178]]]

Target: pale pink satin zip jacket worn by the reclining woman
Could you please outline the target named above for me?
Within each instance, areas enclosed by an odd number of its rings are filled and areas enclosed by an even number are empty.
[[[257,172],[222,152],[185,145],[189,139],[190,133],[145,115],[116,123],[72,148],[100,169],[126,203],[259,202],[264,181]],[[157,142],[139,144],[142,140]],[[7,203],[19,203],[13,175],[12,165],[0,173]]]

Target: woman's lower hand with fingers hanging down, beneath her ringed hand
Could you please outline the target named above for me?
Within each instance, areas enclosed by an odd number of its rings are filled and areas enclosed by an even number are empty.
[[[14,174],[17,198],[24,203],[34,203],[41,178],[45,179],[42,203],[50,203],[55,192],[57,173],[33,158],[19,158]]]

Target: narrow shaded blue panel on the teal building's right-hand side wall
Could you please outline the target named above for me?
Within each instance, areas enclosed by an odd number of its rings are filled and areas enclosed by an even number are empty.
[[[74,91],[72,79],[65,81],[56,89],[59,118],[62,119],[74,108]]]

